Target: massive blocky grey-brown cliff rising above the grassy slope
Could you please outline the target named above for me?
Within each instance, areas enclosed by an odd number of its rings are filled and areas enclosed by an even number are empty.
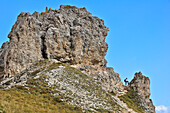
[[[85,8],[21,13],[0,51],[0,74],[12,76],[41,59],[106,66],[108,28]]]

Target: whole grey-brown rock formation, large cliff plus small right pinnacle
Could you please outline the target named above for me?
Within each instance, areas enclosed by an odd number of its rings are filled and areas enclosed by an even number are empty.
[[[10,41],[0,49],[0,85],[6,88],[18,76],[21,79],[16,83],[20,84],[25,81],[22,79],[22,76],[25,77],[23,72],[30,77],[27,73],[29,66],[42,59],[54,59],[92,77],[106,92],[123,92],[119,74],[113,68],[106,67],[107,33],[108,27],[104,21],[92,16],[86,8],[61,5],[59,10],[46,8],[45,12],[32,15],[22,12],[8,35]],[[138,73],[129,87],[143,95],[141,106],[144,106],[146,112],[154,111],[152,101],[149,100],[148,78]]]

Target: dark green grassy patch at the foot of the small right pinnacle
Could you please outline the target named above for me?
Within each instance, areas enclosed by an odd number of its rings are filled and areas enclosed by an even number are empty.
[[[119,98],[125,102],[129,108],[132,108],[138,113],[144,113],[144,109],[140,106],[140,97],[133,89],[130,89],[125,95],[119,96]]]

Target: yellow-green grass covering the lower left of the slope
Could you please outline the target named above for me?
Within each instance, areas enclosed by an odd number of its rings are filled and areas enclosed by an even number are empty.
[[[43,61],[36,66],[42,64]],[[53,63],[49,70],[60,65],[64,64]],[[36,76],[39,72],[40,70],[35,70],[31,76]],[[58,91],[48,87],[45,79],[46,76],[41,75],[38,79],[29,79],[25,86],[0,90],[0,113],[82,113],[80,107],[63,102],[62,95],[53,96]]]

